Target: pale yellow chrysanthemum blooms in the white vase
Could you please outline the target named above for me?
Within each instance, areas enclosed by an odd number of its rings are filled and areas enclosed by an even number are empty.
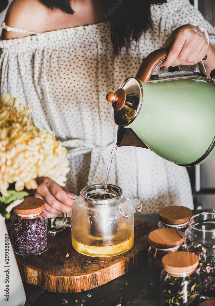
[[[9,183],[16,191],[37,188],[36,177],[49,177],[65,186],[69,172],[67,150],[55,133],[39,131],[29,119],[30,106],[9,94],[0,97],[0,192],[7,196]]]

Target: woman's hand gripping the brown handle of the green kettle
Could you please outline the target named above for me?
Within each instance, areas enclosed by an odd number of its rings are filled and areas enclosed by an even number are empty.
[[[205,36],[199,28],[185,24],[175,29],[161,48],[170,48],[168,56],[160,65],[166,68],[177,65],[195,65],[209,51]]]

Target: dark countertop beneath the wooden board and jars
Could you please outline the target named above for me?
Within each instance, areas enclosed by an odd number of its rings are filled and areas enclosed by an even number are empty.
[[[158,213],[137,214],[137,218],[158,224]],[[147,252],[147,250],[146,250]],[[23,282],[26,306],[159,306],[159,289],[147,280],[147,261],[126,274],[100,287],[80,293],[53,293]]]

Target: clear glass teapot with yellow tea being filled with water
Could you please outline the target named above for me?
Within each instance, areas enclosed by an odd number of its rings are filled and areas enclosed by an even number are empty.
[[[134,243],[134,213],[142,204],[136,197],[129,199],[122,189],[96,184],[83,188],[71,206],[71,225],[67,214],[62,221],[71,227],[72,246],[81,254],[109,257],[127,252]]]

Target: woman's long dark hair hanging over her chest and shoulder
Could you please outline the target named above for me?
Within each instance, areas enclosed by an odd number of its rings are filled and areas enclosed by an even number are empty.
[[[71,0],[39,0],[47,7],[57,7],[62,11],[73,14]],[[131,39],[138,41],[140,35],[152,27],[150,6],[165,3],[159,0],[101,0],[105,3],[106,12],[104,16],[111,20],[111,40],[116,54],[120,53],[122,47],[128,49]]]

